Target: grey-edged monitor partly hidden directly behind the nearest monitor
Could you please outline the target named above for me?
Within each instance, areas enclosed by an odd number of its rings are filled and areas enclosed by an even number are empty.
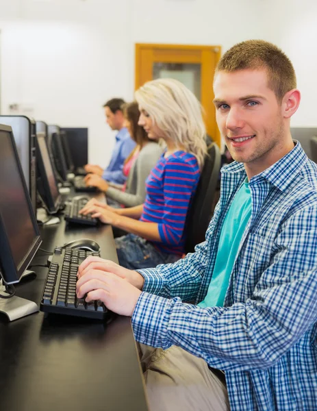
[[[0,116],[0,123],[12,127],[27,190],[36,212],[35,123],[27,116]]]

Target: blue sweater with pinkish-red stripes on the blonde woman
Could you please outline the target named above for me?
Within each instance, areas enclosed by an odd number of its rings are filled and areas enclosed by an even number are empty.
[[[199,177],[194,155],[176,151],[168,158],[162,154],[147,178],[140,221],[158,224],[161,242],[153,243],[161,251],[183,254],[186,214]]]

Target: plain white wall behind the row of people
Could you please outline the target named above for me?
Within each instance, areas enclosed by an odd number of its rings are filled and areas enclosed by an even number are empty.
[[[293,125],[316,126],[316,8],[307,0],[0,0],[1,114],[19,103],[35,119],[89,127],[90,161],[106,165],[114,133],[101,106],[133,98],[136,42],[225,51],[264,38],[298,73],[303,103]]]

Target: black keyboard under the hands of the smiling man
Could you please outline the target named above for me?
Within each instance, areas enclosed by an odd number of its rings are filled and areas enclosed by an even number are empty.
[[[40,310],[103,320],[110,312],[101,301],[86,303],[76,296],[78,266],[99,252],[56,247],[40,301]]]

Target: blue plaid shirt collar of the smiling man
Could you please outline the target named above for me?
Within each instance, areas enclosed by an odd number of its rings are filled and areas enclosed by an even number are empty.
[[[255,184],[261,179],[266,179],[282,192],[286,191],[308,160],[307,155],[301,147],[301,143],[296,140],[293,141],[295,143],[294,148],[275,164],[268,167],[268,169],[252,177],[250,184]],[[233,162],[225,166],[221,173],[240,173],[241,175],[246,175],[244,164],[239,162]]]

